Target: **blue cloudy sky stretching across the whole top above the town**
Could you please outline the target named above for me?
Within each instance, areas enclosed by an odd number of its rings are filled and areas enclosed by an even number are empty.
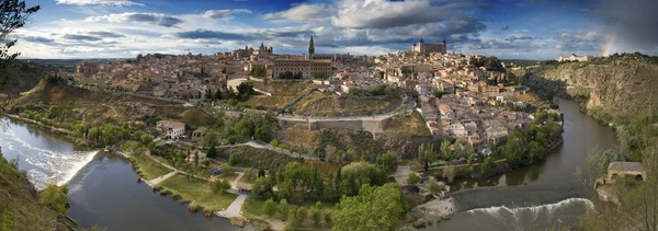
[[[445,38],[447,50],[514,59],[658,55],[657,0],[25,0],[21,58],[132,58],[272,46],[381,55]]]

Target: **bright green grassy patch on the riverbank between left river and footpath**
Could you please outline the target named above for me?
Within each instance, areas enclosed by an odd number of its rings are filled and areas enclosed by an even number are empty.
[[[228,208],[228,206],[238,197],[235,194],[228,193],[222,195],[214,194],[207,182],[192,177],[188,178],[181,174],[169,177],[161,182],[159,186],[181,196],[182,200],[196,201],[202,207],[209,207],[215,211]]]

